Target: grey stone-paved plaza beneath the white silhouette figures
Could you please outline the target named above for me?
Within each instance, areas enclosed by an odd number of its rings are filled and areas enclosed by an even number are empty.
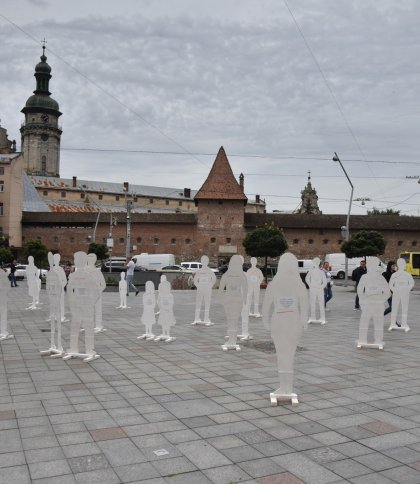
[[[83,363],[41,357],[45,291],[37,311],[24,309],[25,283],[10,291],[0,483],[420,483],[418,291],[411,332],[357,350],[354,293],[334,286],[328,324],[311,325],[297,352],[293,408],[270,406],[276,357],[261,320],[250,320],[253,342],[223,352],[217,292],[215,325],[193,327],[195,291],[175,291],[177,340],[140,341],[141,295],[121,311],[118,293],[104,293],[101,358]],[[69,323],[63,333],[67,348]]]

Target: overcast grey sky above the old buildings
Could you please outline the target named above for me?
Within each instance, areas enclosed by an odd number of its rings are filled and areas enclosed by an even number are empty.
[[[418,0],[2,0],[0,118],[18,141],[47,39],[61,176],[198,189],[220,146],[294,210],[419,215]]]

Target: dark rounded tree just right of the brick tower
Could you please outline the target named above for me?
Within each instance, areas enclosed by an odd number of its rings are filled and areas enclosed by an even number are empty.
[[[265,257],[266,267],[268,257],[278,257],[289,247],[283,230],[273,222],[249,232],[242,241],[242,245],[245,247],[247,255],[251,257]]]

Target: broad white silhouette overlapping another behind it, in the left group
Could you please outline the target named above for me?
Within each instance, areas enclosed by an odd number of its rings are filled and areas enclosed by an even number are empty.
[[[83,358],[83,361],[92,361],[99,358],[95,352],[95,303],[100,297],[101,290],[92,273],[87,272],[87,255],[85,252],[74,254],[75,272],[69,276],[67,294],[71,311],[70,349],[66,352],[64,360],[70,358]],[[85,353],[79,352],[80,327],[85,329]]]

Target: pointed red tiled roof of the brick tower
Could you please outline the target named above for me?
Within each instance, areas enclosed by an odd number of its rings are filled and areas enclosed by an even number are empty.
[[[236,181],[223,146],[217,153],[212,169],[194,200],[248,200]]]

